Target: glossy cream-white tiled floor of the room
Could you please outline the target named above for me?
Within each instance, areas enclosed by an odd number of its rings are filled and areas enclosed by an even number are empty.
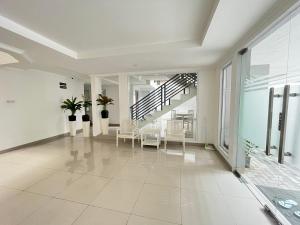
[[[79,136],[0,154],[0,225],[272,224],[216,152],[172,148]]]

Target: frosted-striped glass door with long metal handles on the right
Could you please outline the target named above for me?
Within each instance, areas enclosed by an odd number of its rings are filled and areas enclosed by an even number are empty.
[[[299,12],[250,46],[242,64],[238,171],[274,214],[300,224]]]

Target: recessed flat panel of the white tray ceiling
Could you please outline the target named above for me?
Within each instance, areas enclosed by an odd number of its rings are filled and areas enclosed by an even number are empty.
[[[201,40],[213,0],[1,0],[0,13],[77,52]]]

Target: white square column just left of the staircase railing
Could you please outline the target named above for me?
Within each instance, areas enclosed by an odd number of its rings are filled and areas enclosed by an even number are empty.
[[[119,112],[120,124],[122,121],[129,119],[129,84],[128,75],[119,75]]]

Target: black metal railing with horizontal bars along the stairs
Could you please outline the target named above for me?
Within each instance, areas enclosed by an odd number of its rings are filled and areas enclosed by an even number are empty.
[[[170,104],[172,97],[180,92],[185,93],[186,88],[197,86],[197,73],[181,73],[174,75],[167,82],[148,95],[137,101],[130,107],[133,120],[144,119],[144,116],[155,111],[162,110],[165,105]]]

